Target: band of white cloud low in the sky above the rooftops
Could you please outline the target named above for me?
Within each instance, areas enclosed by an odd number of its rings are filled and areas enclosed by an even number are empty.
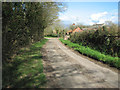
[[[89,16],[73,15],[72,13],[61,13],[59,16],[61,21],[69,23],[82,23],[86,25],[93,25],[94,23],[104,23],[105,21],[112,21],[114,23],[118,22],[117,12],[100,12],[93,13]]]

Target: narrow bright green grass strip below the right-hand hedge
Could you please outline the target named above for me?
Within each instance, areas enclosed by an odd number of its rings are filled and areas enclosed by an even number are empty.
[[[119,57],[112,57],[110,55],[104,55],[103,53],[98,52],[97,50],[93,50],[89,47],[85,47],[85,46],[82,46],[76,43],[72,43],[69,40],[64,40],[62,38],[60,38],[59,40],[65,45],[69,46],[70,48],[73,48],[74,50],[80,52],[83,55],[89,56],[96,60],[102,61],[106,64],[109,64],[110,66],[114,66],[120,69],[120,58]]]

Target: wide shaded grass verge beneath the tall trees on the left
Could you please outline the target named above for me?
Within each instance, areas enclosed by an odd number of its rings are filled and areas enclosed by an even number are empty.
[[[18,51],[11,62],[3,64],[3,88],[39,88],[46,82],[43,73],[42,46],[47,39]]]

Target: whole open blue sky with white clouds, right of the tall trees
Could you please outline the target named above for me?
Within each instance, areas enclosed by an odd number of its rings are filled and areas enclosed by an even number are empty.
[[[64,24],[118,23],[118,2],[67,2],[66,9],[59,15]]]

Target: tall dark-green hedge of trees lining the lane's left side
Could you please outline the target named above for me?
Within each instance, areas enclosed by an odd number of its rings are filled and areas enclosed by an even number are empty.
[[[10,58],[19,48],[43,38],[44,29],[61,11],[56,2],[2,3],[2,57]]]

